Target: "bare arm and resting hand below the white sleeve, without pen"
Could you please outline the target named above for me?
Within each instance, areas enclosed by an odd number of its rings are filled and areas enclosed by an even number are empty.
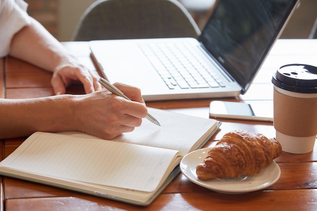
[[[81,81],[86,93],[100,90],[98,75],[78,62],[41,24],[31,20],[14,35],[9,55],[54,72],[51,83],[55,94],[65,94],[73,81]]]

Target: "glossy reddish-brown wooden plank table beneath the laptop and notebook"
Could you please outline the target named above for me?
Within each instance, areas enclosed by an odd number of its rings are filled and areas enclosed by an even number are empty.
[[[88,44],[64,43],[82,62],[94,68],[89,58]],[[271,76],[276,68],[288,63],[317,65],[317,40],[278,40],[250,90],[227,101],[272,103]],[[53,95],[51,73],[11,57],[0,58],[0,97],[34,98]],[[81,86],[72,86],[68,93],[82,93]],[[211,100],[177,100],[147,102],[149,107],[168,109],[208,118]],[[205,147],[212,146],[225,133],[243,129],[274,137],[272,123],[222,120],[220,130]],[[25,138],[2,140],[2,158],[14,151]],[[188,181],[182,174],[149,206],[139,207],[46,185],[0,178],[2,210],[317,210],[317,149],[307,154],[283,152],[275,159],[281,178],[264,190],[247,194],[222,194],[207,190]]]

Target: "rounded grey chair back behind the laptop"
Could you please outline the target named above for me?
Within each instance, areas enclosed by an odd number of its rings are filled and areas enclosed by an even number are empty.
[[[194,37],[200,29],[176,0],[98,0],[80,19],[73,41]]]

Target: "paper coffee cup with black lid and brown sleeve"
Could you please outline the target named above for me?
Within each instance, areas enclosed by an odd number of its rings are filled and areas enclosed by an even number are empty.
[[[317,135],[317,67],[284,65],[272,83],[276,140],[285,152],[311,152]]]

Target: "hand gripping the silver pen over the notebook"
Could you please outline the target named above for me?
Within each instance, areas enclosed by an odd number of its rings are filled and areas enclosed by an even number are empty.
[[[113,139],[140,126],[147,108],[138,88],[114,83],[132,101],[106,89],[80,97],[74,109],[74,123],[80,131],[103,139]]]

